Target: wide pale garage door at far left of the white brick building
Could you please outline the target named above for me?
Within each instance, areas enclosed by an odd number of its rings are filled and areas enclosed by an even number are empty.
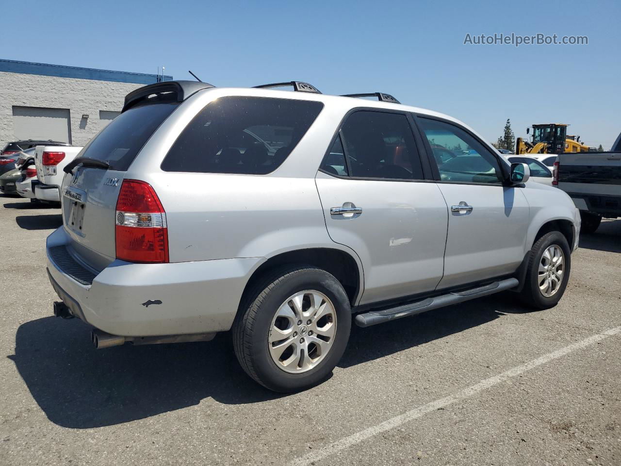
[[[13,129],[17,139],[52,139],[71,144],[69,109],[14,106]]]

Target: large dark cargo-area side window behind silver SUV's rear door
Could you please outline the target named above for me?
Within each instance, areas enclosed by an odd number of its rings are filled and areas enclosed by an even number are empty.
[[[216,99],[189,122],[161,169],[265,175],[284,162],[323,107],[293,99]]]

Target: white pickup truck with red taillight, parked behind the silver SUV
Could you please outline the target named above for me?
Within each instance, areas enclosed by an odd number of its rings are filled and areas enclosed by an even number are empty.
[[[35,154],[37,178],[40,184],[35,186],[35,197],[40,201],[60,202],[60,185],[65,172],[63,168],[82,150],[82,146],[47,146],[38,145]]]

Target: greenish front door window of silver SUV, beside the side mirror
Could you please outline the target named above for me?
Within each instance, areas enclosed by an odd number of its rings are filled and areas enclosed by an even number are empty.
[[[440,171],[440,180],[468,183],[499,183],[498,160],[478,140],[460,127],[420,118],[433,159]]]

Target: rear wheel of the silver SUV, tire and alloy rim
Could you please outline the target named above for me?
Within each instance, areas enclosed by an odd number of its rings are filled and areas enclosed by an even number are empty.
[[[300,295],[303,297],[298,299]],[[310,314],[302,324],[290,298],[296,298],[302,310]],[[314,302],[325,306],[314,306]],[[313,310],[319,308],[320,312]],[[318,317],[307,325],[312,314]],[[328,330],[322,334],[324,329]],[[339,281],[311,266],[288,267],[266,276],[242,299],[233,323],[233,348],[243,370],[255,381],[270,390],[291,393],[311,388],[330,376],[345,352],[350,329],[350,303]],[[281,345],[278,339],[284,332],[289,333]],[[330,332],[333,336],[327,337]],[[318,337],[328,339],[327,343],[322,340],[315,344]],[[276,354],[285,345],[282,361],[277,361]]]

